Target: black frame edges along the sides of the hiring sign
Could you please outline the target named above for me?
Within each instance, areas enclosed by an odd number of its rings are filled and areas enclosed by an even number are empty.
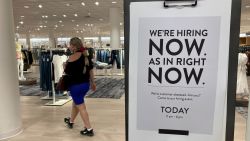
[[[124,35],[125,35],[125,114],[126,114],[126,141],[128,140],[129,129],[129,32],[130,32],[130,3],[149,2],[159,0],[124,0]],[[185,0],[184,0],[185,1]],[[162,0],[164,2],[164,0]],[[198,0],[199,5],[199,0]],[[232,0],[231,25],[230,25],[230,45],[229,45],[229,68],[227,87],[227,119],[226,119],[226,141],[234,141],[235,127],[235,104],[236,104],[236,84],[238,65],[238,46],[240,34],[241,0]],[[227,63],[227,62],[225,62]]]

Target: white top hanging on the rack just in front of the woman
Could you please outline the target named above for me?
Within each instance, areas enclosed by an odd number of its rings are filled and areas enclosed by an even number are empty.
[[[66,55],[54,55],[52,63],[54,65],[54,78],[55,83],[59,82],[59,79],[63,75],[64,67],[63,64],[67,61],[68,57]]]

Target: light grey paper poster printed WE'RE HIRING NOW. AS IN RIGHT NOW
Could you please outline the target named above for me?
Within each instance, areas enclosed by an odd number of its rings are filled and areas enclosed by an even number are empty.
[[[138,130],[212,134],[219,35],[219,17],[139,20]]]

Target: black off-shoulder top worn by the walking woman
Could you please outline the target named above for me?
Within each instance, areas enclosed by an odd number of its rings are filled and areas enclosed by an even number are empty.
[[[85,65],[85,57],[82,54],[79,59],[73,62],[67,62],[66,68],[64,70],[65,74],[69,75],[70,82],[69,86],[77,85],[81,83],[89,83],[90,79],[90,70],[93,69],[93,62],[89,59],[89,65],[86,66],[86,72],[83,73],[84,65]]]

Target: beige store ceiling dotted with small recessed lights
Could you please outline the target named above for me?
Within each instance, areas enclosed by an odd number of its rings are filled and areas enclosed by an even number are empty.
[[[99,6],[95,2],[99,2]],[[42,8],[38,7],[40,4]],[[32,37],[48,37],[51,31],[57,37],[108,36],[112,7],[119,9],[117,20],[123,23],[123,0],[13,0],[15,30],[22,37],[26,33]],[[123,34],[123,25],[121,32]]]

